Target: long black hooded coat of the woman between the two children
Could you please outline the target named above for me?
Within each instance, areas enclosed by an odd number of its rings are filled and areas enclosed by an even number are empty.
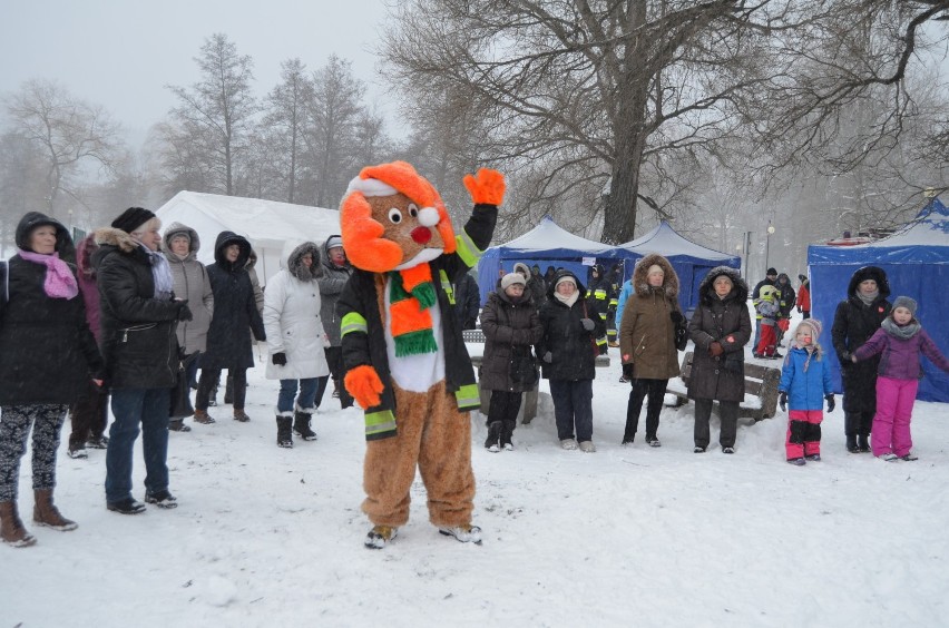
[[[857,296],[858,286],[867,279],[875,281],[880,291],[870,305]],[[831,340],[841,365],[844,412],[877,411],[877,366],[880,364],[880,356],[853,364],[850,354],[863,346],[890,314],[892,305],[887,301],[888,296],[890,283],[887,281],[887,273],[877,266],[864,266],[850,277],[847,301],[841,301],[837,306]]]

